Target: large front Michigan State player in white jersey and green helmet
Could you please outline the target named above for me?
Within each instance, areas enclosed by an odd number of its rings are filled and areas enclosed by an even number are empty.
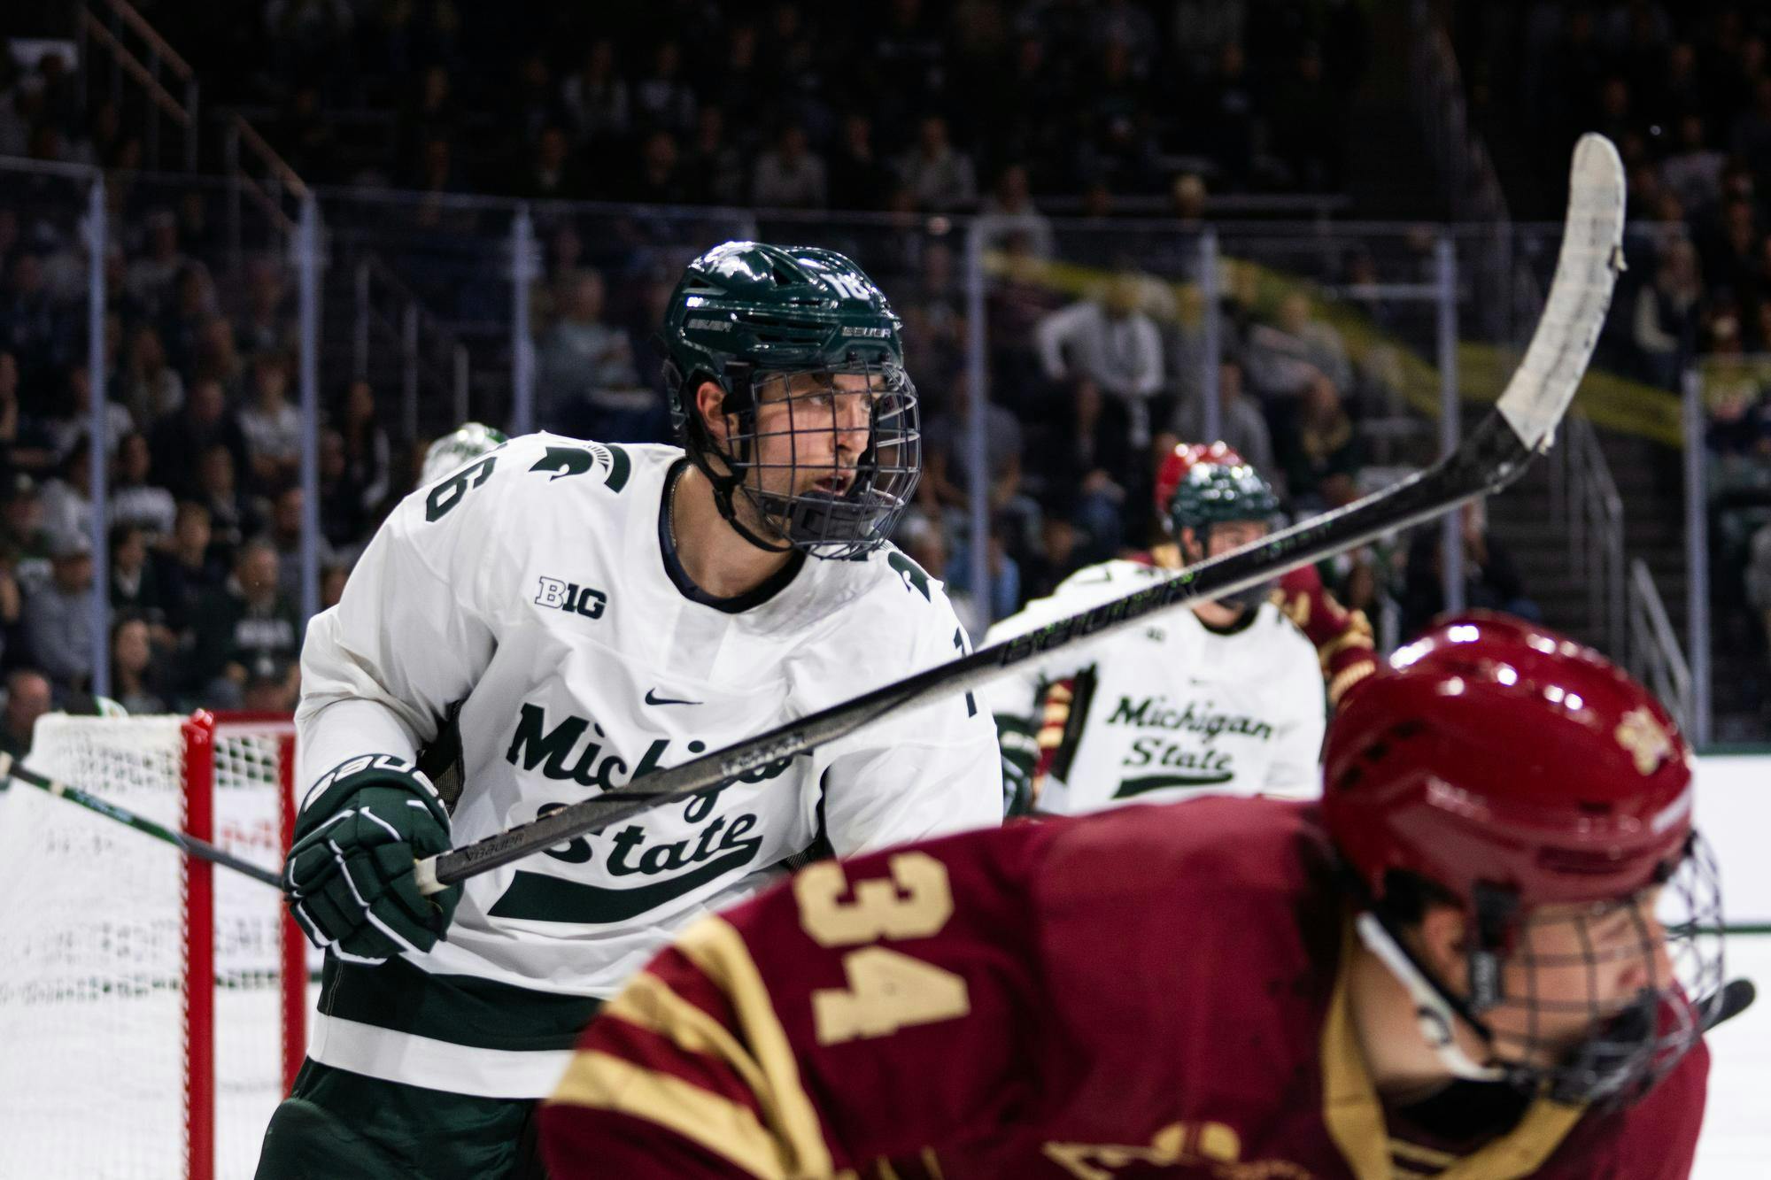
[[[666,312],[682,448],[517,438],[383,524],[303,650],[285,882],[328,955],[260,1176],[540,1175],[533,1100],[684,923],[808,858],[1001,820],[995,732],[962,695],[413,886],[418,856],[967,648],[886,544],[919,473],[898,331],[848,259],[728,243]]]

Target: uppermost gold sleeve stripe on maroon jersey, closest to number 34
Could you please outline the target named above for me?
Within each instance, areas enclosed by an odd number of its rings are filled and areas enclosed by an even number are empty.
[[[677,950],[726,994],[739,1013],[744,1040],[763,1074],[763,1088],[756,1090],[756,1097],[779,1120],[788,1173],[827,1176],[832,1168],[831,1150],[824,1143],[818,1113],[799,1079],[793,1045],[776,1017],[769,989],[744,939],[724,918],[708,914],[684,930]]]

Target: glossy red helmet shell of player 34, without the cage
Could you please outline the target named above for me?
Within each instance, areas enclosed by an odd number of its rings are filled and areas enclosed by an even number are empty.
[[[1374,900],[1408,870],[1520,911],[1631,895],[1682,858],[1691,751],[1597,652],[1472,613],[1396,652],[1341,702],[1323,813]]]

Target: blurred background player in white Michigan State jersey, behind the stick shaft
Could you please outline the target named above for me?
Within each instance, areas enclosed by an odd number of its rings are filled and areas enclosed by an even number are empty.
[[[1181,565],[1266,535],[1279,500],[1224,443],[1178,446],[1158,484],[1165,544],[1148,562],[1080,569],[990,629],[986,641],[1132,594]],[[983,689],[1002,735],[1009,813],[1075,815],[1201,794],[1307,797],[1326,723],[1316,647],[1256,586],[1024,664]],[[1036,744],[1043,712],[1056,749]],[[1041,771],[1038,776],[1034,774]]]

